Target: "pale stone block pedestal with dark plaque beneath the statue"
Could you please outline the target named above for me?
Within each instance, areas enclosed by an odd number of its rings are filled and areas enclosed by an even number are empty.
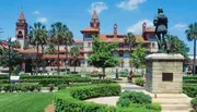
[[[147,58],[146,90],[152,94],[181,94],[183,61],[181,54],[153,53]]]

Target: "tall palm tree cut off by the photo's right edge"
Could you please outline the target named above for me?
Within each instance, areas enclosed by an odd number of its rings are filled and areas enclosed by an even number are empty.
[[[197,23],[190,24],[188,29],[185,30],[188,41],[194,40],[194,65],[193,74],[196,73],[196,39],[197,39]]]

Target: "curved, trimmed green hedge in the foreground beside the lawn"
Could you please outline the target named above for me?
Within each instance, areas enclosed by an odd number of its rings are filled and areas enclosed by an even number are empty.
[[[97,91],[97,92],[96,92]],[[83,87],[71,87],[56,92],[56,112],[159,112],[144,108],[115,108],[106,104],[85,102],[79,99],[88,99],[104,96],[117,96],[120,86],[117,84],[100,84]]]

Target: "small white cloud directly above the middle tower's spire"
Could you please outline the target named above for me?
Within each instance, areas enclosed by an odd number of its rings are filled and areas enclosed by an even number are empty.
[[[100,14],[102,11],[107,10],[107,5],[104,2],[93,2],[89,8],[89,12],[92,14],[94,10]]]

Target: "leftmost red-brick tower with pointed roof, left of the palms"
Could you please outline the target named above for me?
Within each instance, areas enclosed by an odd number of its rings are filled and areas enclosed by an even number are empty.
[[[18,22],[15,23],[15,38],[21,43],[21,48],[27,43],[27,23],[24,17],[23,11],[20,13],[20,17]]]

